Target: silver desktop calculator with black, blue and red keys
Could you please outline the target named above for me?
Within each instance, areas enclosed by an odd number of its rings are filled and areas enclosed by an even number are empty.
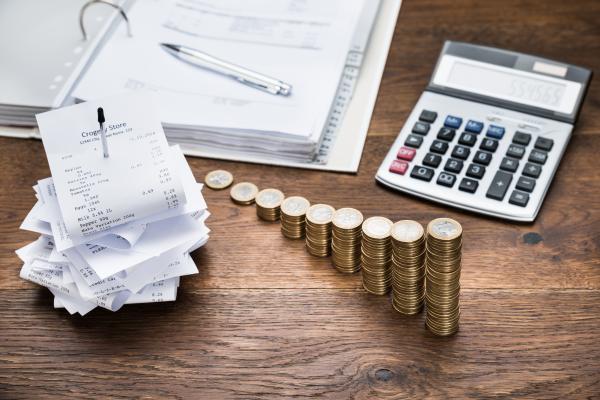
[[[383,160],[383,185],[446,205],[533,221],[592,72],[447,41]]]

